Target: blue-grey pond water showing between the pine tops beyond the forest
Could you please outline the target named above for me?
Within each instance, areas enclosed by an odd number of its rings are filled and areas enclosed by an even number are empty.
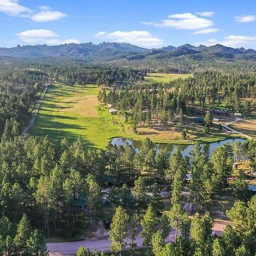
[[[216,147],[220,147],[224,143],[228,143],[228,142],[234,145],[234,143],[236,143],[237,141],[240,141],[241,143],[245,142],[244,139],[236,138],[236,139],[225,139],[224,141],[212,142],[212,143],[206,143],[206,144],[209,147],[209,152],[211,156],[213,153],[213,150]],[[125,139],[125,138],[114,138],[112,139],[111,143],[113,145],[122,145],[122,146],[125,146],[125,143],[128,143],[131,146],[133,146],[133,148],[135,148],[137,152],[139,151],[139,147],[141,147],[141,144],[142,144],[141,141],[134,141],[133,139]],[[160,143],[154,143],[154,145],[155,145],[156,152],[159,152],[160,150],[167,147],[168,150],[170,150],[171,154],[174,154],[177,148],[180,148],[181,154],[183,156],[191,156],[189,152],[191,152],[194,146],[189,144],[160,144]]]

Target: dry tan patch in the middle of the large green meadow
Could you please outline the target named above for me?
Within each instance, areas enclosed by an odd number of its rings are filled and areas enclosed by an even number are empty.
[[[67,98],[63,103],[71,104],[67,108],[59,110],[60,112],[76,113],[84,117],[98,117],[96,106],[98,99],[96,95],[88,95],[84,97],[71,97]]]

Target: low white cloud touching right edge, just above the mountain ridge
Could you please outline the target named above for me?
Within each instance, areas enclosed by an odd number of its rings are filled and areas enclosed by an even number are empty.
[[[233,48],[240,48],[245,46],[256,46],[256,36],[241,36],[230,35],[226,36],[224,40],[209,39],[206,42],[195,43],[195,45],[204,44],[205,46],[213,46],[214,44],[222,44]]]

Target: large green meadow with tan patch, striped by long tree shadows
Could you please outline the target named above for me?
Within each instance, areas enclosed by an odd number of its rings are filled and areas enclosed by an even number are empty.
[[[109,139],[124,135],[122,120],[110,115],[97,101],[94,85],[49,87],[30,133],[48,135],[56,141],[66,137],[85,140],[88,147],[104,148]]]

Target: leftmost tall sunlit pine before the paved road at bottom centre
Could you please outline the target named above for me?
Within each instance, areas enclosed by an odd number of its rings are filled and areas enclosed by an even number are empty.
[[[121,255],[121,251],[126,246],[125,237],[128,232],[127,226],[129,224],[129,215],[122,207],[115,210],[112,219],[111,229],[109,231],[109,239],[112,241],[110,250],[115,251]]]

